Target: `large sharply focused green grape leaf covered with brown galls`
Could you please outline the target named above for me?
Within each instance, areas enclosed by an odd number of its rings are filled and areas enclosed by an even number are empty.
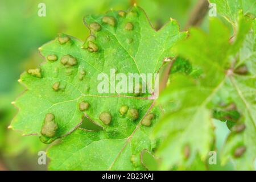
[[[151,94],[99,93],[98,75],[158,73],[187,35],[172,19],[155,31],[137,6],[86,16],[85,24],[92,34],[85,42],[61,34],[39,48],[47,62],[20,77],[27,90],[11,127],[44,143],[64,137],[48,151],[50,169],[144,169],[141,151],[155,146],[149,134],[160,109]],[[118,81],[108,81],[111,92]],[[77,129],[85,117],[102,130]]]

